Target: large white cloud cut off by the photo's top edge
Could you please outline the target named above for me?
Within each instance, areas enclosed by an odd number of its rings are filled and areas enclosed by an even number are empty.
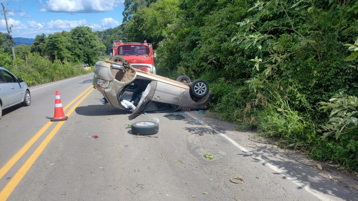
[[[48,0],[46,3],[46,9],[40,9],[41,12],[99,13],[123,4],[122,0]]]

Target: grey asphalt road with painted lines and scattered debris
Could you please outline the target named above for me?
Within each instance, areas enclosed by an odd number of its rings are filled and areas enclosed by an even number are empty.
[[[129,113],[101,105],[92,77],[31,87],[31,106],[4,110],[0,200],[358,200],[318,169],[205,114],[129,121]],[[63,107],[72,101],[69,118],[48,123],[55,90]],[[159,132],[138,137],[125,128],[143,120],[159,122]]]

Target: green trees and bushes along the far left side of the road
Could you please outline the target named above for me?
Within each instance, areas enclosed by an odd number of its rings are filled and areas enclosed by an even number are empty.
[[[7,34],[0,33],[0,66],[32,86],[87,73],[81,64],[93,65],[104,58],[105,45],[91,28],[79,26],[47,37],[37,35],[34,44],[14,49],[15,62]]]

